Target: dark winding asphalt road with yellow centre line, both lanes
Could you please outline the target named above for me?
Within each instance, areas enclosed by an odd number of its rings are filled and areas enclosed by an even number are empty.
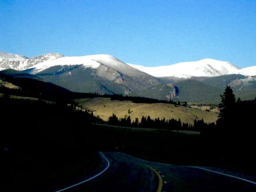
[[[64,191],[156,192],[159,179],[154,170],[162,178],[162,192],[256,191],[256,178],[227,174],[224,170],[148,162],[116,152],[104,155],[110,163],[105,172]]]

